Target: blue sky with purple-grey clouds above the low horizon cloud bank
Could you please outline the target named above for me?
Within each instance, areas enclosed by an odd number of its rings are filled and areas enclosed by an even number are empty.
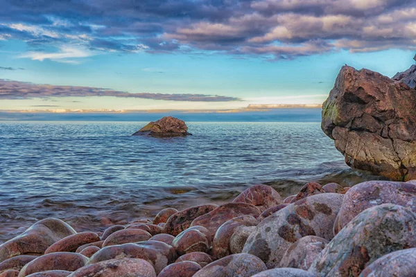
[[[0,0],[0,109],[320,104],[414,63],[416,0]]]

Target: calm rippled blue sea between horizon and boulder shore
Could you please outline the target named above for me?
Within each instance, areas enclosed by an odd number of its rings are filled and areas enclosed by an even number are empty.
[[[353,185],[320,123],[188,123],[194,136],[130,136],[147,122],[0,122],[0,242],[44,217],[101,231],[223,203],[251,184],[284,196],[307,181]]]

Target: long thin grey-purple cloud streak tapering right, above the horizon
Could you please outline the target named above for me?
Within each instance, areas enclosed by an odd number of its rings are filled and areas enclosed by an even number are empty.
[[[190,102],[230,102],[239,98],[206,94],[186,93],[128,93],[98,87],[54,86],[0,79],[0,99],[58,98],[58,97],[113,96],[121,98],[142,98],[153,100]]]

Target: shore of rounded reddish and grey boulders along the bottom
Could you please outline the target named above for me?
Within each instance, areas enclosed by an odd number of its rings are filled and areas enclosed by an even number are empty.
[[[416,181],[256,185],[232,202],[77,233],[47,218],[0,246],[0,277],[416,276]]]

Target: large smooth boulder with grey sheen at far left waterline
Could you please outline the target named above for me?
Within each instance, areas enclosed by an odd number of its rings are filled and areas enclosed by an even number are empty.
[[[58,240],[76,231],[62,220],[46,218],[36,222],[21,235],[0,245],[0,262],[24,254],[43,254]]]

